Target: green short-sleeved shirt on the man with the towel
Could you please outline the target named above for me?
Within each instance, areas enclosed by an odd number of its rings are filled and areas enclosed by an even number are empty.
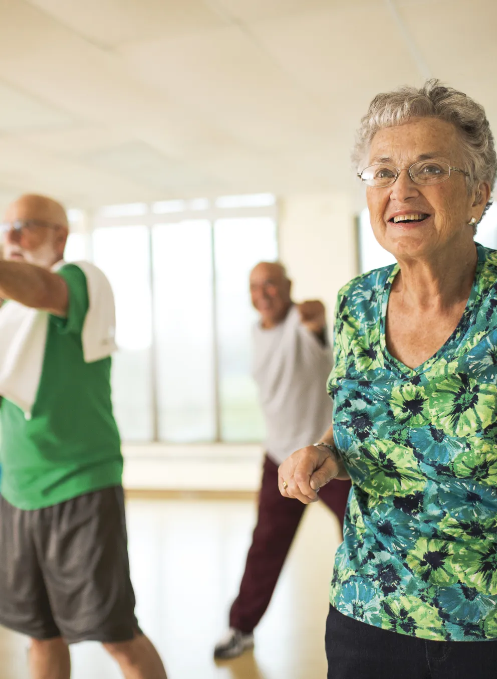
[[[85,274],[58,270],[67,318],[49,316],[43,371],[31,419],[11,401],[0,407],[0,492],[14,507],[41,509],[121,483],[123,458],[111,404],[111,359],[85,363]]]

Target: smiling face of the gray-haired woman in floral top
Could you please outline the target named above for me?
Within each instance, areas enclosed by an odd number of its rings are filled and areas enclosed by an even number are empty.
[[[414,118],[379,130],[372,139],[367,165],[382,162],[405,170],[391,186],[368,186],[366,191],[374,235],[397,259],[424,259],[455,242],[470,242],[468,223],[473,216],[479,219],[485,206],[473,206],[475,194],[468,194],[462,172],[451,172],[439,184],[414,183],[405,168],[420,160],[464,169],[456,128],[437,118]],[[418,221],[399,221],[406,215]]]

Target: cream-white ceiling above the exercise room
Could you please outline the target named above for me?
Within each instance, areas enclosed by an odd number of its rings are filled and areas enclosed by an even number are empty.
[[[0,0],[0,206],[346,190],[370,98],[436,76],[497,128],[495,0]]]

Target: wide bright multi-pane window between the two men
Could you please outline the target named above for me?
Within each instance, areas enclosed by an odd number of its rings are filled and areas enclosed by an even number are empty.
[[[98,211],[87,251],[115,293],[113,404],[124,440],[262,439],[248,277],[258,261],[277,259],[268,196]],[[66,254],[82,259],[84,238],[71,234]]]

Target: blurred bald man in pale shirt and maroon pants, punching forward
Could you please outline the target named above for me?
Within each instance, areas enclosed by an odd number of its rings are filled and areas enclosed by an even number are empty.
[[[332,421],[325,308],[320,301],[294,304],[291,291],[279,263],[261,262],[250,274],[252,304],[260,314],[253,337],[254,378],[266,420],[266,455],[252,546],[231,606],[230,629],[214,649],[218,659],[237,657],[254,646],[254,627],[269,606],[304,513],[304,504],[281,496],[278,466],[300,447],[321,441]],[[319,492],[340,524],[349,490],[349,482],[331,481]]]

